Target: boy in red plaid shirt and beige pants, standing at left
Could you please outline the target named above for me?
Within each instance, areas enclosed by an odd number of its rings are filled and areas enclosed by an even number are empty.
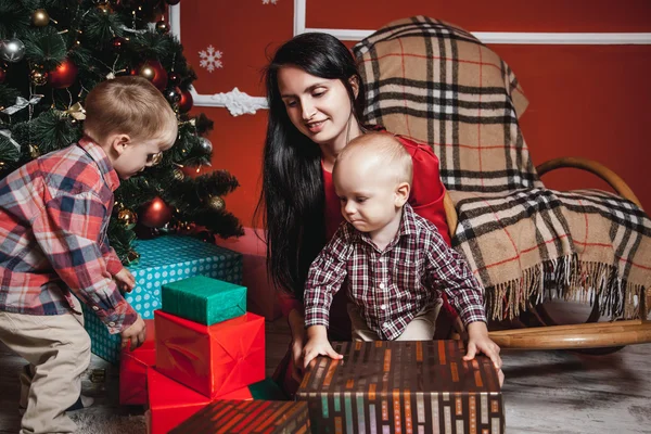
[[[108,246],[113,192],[154,165],[177,137],[163,94],[141,77],[99,84],[86,98],[84,138],[0,180],[0,341],[29,365],[21,374],[21,433],[72,433],[90,337],[80,303],[123,345],[144,321],[122,290],[135,286]]]

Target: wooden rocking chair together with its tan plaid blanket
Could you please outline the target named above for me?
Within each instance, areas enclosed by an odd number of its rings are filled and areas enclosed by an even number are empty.
[[[381,124],[395,133],[434,143],[442,164],[442,178],[448,188],[445,208],[450,237],[455,247],[470,258],[471,268],[480,280],[484,280],[493,318],[503,320],[528,315],[545,326],[492,331],[490,336],[496,343],[503,348],[585,349],[651,342],[651,321],[647,320],[650,303],[644,291],[651,284],[651,273],[638,270],[651,268],[642,266],[633,271],[617,268],[620,257],[615,255],[612,255],[611,264],[592,267],[587,248],[573,244],[577,234],[572,232],[577,232],[573,221],[584,217],[586,221],[590,218],[614,228],[615,232],[618,227],[626,230],[633,227],[633,232],[627,233],[636,237],[638,250],[627,251],[625,259],[639,261],[647,260],[648,256],[641,255],[640,259],[640,252],[651,251],[651,221],[628,186],[599,163],[558,158],[534,167],[518,124],[527,101],[514,74],[497,54],[470,33],[424,16],[393,22],[357,43],[353,51],[365,82],[368,106],[365,120]],[[490,140],[500,146],[482,148],[482,142]],[[493,149],[497,151],[492,153]],[[624,200],[600,192],[565,193],[546,189],[539,177],[562,167],[579,168],[601,177]],[[494,202],[484,209],[477,205],[482,201]],[[585,216],[580,207],[572,205],[577,201],[590,202]],[[608,206],[617,209],[616,217],[604,217],[607,213],[598,212]],[[483,215],[477,209],[483,209]],[[482,220],[493,209],[498,209],[496,216],[503,213],[495,220]],[[524,222],[509,217],[520,215],[515,210],[524,215]],[[559,221],[550,222],[551,219]],[[547,225],[545,231],[537,229],[540,225]],[[540,250],[539,261],[522,269],[521,276],[500,281],[500,268],[495,267],[497,271],[493,275],[487,272],[482,253],[486,256],[486,252],[490,252],[490,245],[486,246],[486,243],[499,244],[503,242],[500,237],[510,238],[510,230],[522,228],[523,232],[519,233],[551,233],[539,244],[557,244],[558,248]],[[554,230],[563,237],[554,237]],[[586,224],[586,240],[587,237]],[[523,252],[535,251],[508,241],[511,244],[503,245],[513,245],[518,260],[521,255],[524,257]],[[613,239],[612,242],[618,241]],[[562,250],[563,254],[558,253]],[[549,258],[550,252],[557,257]],[[501,252],[498,250],[497,253]],[[607,248],[602,256],[611,254]],[[505,268],[505,273],[507,271],[512,269]],[[586,323],[556,324],[551,316],[546,315],[545,301],[553,284],[561,288],[554,289],[560,292],[571,288],[572,291],[597,294]],[[569,298],[567,293],[564,295]],[[613,321],[595,322],[605,311],[611,314]],[[628,319],[621,320],[621,317]],[[620,320],[615,322],[614,319]],[[461,322],[457,321],[456,326],[462,332]]]

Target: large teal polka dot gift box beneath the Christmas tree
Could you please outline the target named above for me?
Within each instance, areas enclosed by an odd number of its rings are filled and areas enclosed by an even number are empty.
[[[183,235],[139,240],[135,247],[140,260],[127,268],[136,278],[136,288],[125,298],[143,319],[154,318],[154,310],[162,307],[162,286],[165,284],[194,276],[242,283],[242,254],[228,248]],[[92,353],[117,363],[119,334],[110,334],[104,323],[86,306],[84,319]]]

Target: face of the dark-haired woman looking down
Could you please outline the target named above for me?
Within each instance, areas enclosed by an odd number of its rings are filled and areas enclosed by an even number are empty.
[[[339,79],[316,77],[296,66],[278,71],[278,88],[292,124],[317,144],[346,145],[352,102]],[[355,89],[355,88],[354,88]],[[352,138],[348,138],[352,139]]]

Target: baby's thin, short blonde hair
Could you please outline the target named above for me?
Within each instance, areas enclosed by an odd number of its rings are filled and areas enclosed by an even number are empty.
[[[333,176],[337,164],[356,153],[374,157],[383,171],[395,176],[396,183],[407,182],[411,187],[413,178],[411,155],[395,136],[386,132],[367,132],[350,140],[334,162]]]

